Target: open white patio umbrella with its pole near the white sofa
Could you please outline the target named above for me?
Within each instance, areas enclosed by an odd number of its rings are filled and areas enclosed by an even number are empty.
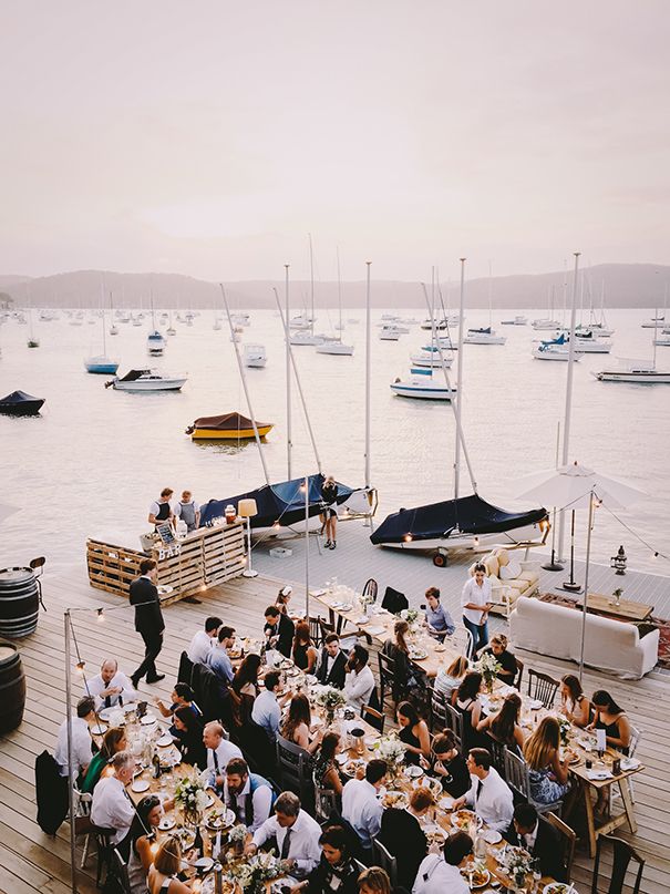
[[[584,671],[584,639],[586,635],[586,604],[588,598],[588,573],[591,554],[591,531],[594,527],[594,507],[605,503],[611,508],[626,508],[636,500],[646,496],[642,491],[617,479],[601,475],[584,465],[573,463],[558,469],[548,469],[526,475],[517,482],[520,500],[538,500],[544,505],[561,508],[588,508],[588,528],[586,537],[586,569],[584,575],[584,616],[581,619],[581,651],[579,676]],[[574,516],[573,516],[574,518]],[[573,524],[574,532],[574,524]],[[573,575],[570,574],[570,580]]]

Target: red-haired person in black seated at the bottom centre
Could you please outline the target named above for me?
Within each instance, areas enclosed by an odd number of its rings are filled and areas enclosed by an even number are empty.
[[[410,794],[406,810],[389,808],[382,816],[379,840],[398,865],[398,884],[411,891],[419,864],[427,851],[427,839],[420,825],[435,803],[430,789],[420,787]]]

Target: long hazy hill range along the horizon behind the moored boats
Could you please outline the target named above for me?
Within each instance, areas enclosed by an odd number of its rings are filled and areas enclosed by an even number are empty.
[[[153,294],[158,307],[215,307],[221,306],[218,284],[194,279],[179,274],[118,274],[100,270],[75,270],[53,276],[29,278],[0,276],[0,289],[11,295],[18,306],[25,304],[40,307],[99,307],[104,280],[105,301],[114,307],[148,307]],[[497,308],[545,307],[552,292],[556,307],[563,307],[566,275],[560,273],[515,275],[466,281],[465,306],[487,307],[489,288],[493,305]],[[567,301],[571,297],[571,273],[567,274]],[[670,282],[670,267],[653,264],[601,264],[585,268],[580,289],[584,302],[599,306],[604,291],[607,307],[662,307],[663,292]],[[272,288],[284,301],[284,282],[248,280],[226,282],[226,294],[236,308],[275,307]],[[362,307],[365,300],[364,282],[342,282],[342,304],[346,307]],[[290,285],[291,306],[299,310],[307,304],[309,282]],[[337,307],[337,282],[316,282],[317,307]],[[425,307],[420,282],[372,280],[372,304],[384,308]],[[442,286],[443,299],[454,308],[458,300],[458,286]]]

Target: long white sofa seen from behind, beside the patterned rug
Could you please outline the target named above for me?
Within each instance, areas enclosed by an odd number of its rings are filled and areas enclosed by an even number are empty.
[[[578,662],[581,612],[522,596],[509,615],[509,638],[517,648]],[[658,630],[640,639],[635,624],[586,616],[584,662],[589,667],[639,680],[656,666],[658,646]]]

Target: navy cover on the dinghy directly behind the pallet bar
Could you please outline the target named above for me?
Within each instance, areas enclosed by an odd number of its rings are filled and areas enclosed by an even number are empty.
[[[321,487],[326,477],[323,475],[309,475],[309,516],[319,515],[324,503],[321,497]],[[280,525],[292,525],[305,520],[305,492],[300,490],[305,479],[292,479],[282,481],[279,484],[266,484],[256,491],[246,494],[228,496],[225,500],[210,500],[200,510],[200,527],[213,518],[224,515],[226,506],[231,503],[235,508],[240,500],[255,500],[258,514],[251,518],[251,527],[270,527],[275,523]],[[341,482],[337,482],[337,503],[344,503],[353,493],[352,487],[348,487]]]

